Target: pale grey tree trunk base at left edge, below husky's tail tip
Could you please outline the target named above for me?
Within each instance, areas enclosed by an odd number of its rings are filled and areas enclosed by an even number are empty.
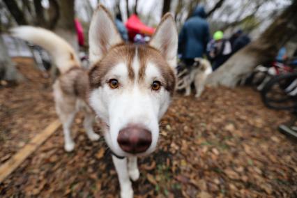
[[[0,79],[22,82],[24,77],[17,71],[15,63],[10,59],[6,45],[0,34]]]

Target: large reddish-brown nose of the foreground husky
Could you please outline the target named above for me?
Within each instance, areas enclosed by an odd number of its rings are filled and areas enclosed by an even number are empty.
[[[127,153],[142,153],[151,146],[151,132],[141,125],[128,125],[120,130],[118,143]]]

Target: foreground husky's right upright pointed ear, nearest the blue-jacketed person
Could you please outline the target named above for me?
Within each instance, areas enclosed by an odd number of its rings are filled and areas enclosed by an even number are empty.
[[[170,13],[162,17],[149,45],[161,52],[169,66],[176,67],[178,34],[174,17]]]

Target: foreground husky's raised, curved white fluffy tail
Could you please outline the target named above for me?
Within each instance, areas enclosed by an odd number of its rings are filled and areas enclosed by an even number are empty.
[[[61,73],[65,73],[70,68],[81,66],[73,47],[52,31],[40,27],[17,26],[10,29],[10,33],[12,36],[22,38],[47,50]]]

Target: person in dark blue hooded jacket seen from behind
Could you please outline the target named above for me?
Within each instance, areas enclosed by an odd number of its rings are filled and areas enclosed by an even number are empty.
[[[206,52],[209,40],[208,22],[203,6],[198,6],[192,17],[188,19],[178,36],[178,54],[181,60],[188,66],[194,63],[196,57],[202,57]]]

